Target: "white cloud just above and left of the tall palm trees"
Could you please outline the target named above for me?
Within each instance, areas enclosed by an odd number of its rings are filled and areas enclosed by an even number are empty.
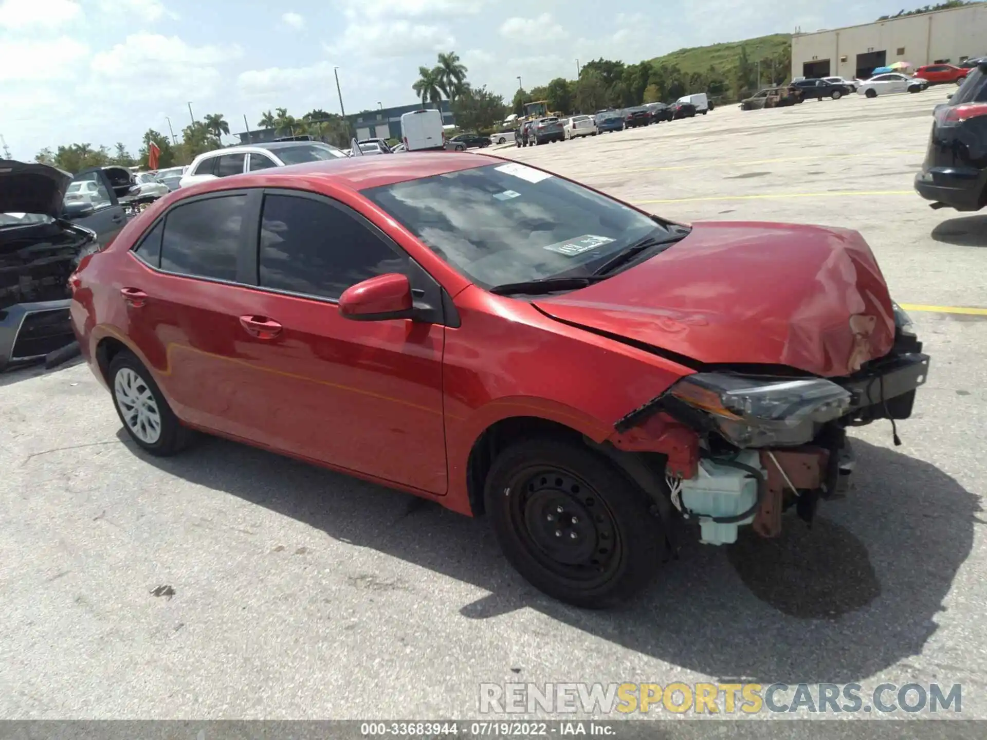
[[[391,21],[368,25],[350,24],[326,51],[335,57],[360,54],[378,59],[413,56],[452,48],[456,39],[445,26]]]

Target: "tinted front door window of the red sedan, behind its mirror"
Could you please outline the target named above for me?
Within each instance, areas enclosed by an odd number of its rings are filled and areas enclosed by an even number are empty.
[[[261,285],[339,298],[361,280],[408,271],[408,258],[328,203],[266,195],[261,225]]]

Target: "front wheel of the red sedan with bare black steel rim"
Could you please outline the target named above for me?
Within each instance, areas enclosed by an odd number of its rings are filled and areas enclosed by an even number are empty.
[[[603,609],[630,598],[665,555],[645,491],[581,445],[515,442],[493,461],[485,496],[507,560],[535,588],[573,606]]]

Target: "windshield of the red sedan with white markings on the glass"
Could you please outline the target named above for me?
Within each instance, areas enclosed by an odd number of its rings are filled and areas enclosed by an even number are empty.
[[[518,163],[382,185],[363,194],[485,288],[588,275],[639,240],[671,233],[605,195]]]

